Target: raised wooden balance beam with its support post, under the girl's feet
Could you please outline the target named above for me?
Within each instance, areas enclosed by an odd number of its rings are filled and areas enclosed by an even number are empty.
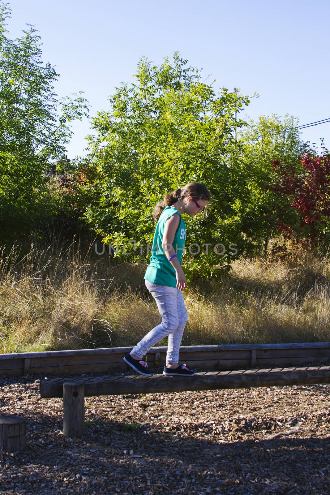
[[[199,390],[283,387],[330,383],[330,366],[196,373],[192,377],[151,375],[53,378],[40,382],[42,397],[63,397],[63,435],[82,437],[85,396],[154,394]]]

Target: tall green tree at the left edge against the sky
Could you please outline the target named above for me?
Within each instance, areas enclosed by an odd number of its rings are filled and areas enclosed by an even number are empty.
[[[70,123],[88,115],[81,94],[59,99],[59,75],[41,59],[40,36],[30,26],[7,38],[7,4],[0,4],[0,236],[13,240],[29,232],[47,208],[49,162],[65,153]]]

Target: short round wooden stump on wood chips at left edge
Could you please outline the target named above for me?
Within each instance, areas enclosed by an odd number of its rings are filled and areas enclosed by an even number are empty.
[[[0,448],[17,452],[26,448],[26,420],[22,416],[0,416]]]

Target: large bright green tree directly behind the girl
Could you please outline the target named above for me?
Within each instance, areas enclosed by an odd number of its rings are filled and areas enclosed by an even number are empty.
[[[201,273],[210,274],[231,259],[230,243],[244,244],[233,207],[246,194],[244,177],[230,156],[238,146],[235,129],[244,125],[235,113],[249,99],[227,88],[216,94],[215,81],[203,82],[179,53],[160,66],[142,58],[136,79],[117,88],[111,109],[92,121],[90,147],[100,179],[87,219],[107,243],[151,243],[153,206],[165,192],[202,182],[213,201],[206,218],[187,219],[187,246],[212,245],[198,254]],[[222,257],[213,250],[218,243],[226,247]],[[189,257],[194,271],[195,256]]]

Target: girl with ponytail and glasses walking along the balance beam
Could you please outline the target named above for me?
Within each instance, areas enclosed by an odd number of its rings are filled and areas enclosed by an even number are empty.
[[[143,357],[150,347],[167,336],[168,348],[163,374],[195,374],[186,364],[179,366],[180,344],[188,320],[182,295],[183,289],[187,287],[187,280],[181,267],[187,229],[181,214],[195,216],[201,213],[209,200],[210,193],[206,187],[193,182],[167,194],[154,208],[153,217],[158,223],[144,280],[146,288],[156,301],[162,321],[124,357],[124,361],[141,375],[151,374]]]

